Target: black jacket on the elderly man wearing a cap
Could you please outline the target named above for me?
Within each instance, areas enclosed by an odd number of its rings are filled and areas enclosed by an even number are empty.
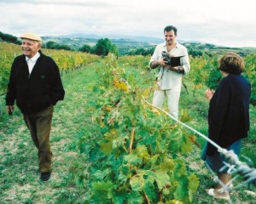
[[[55,61],[40,52],[32,73],[29,74],[24,54],[15,58],[10,72],[6,105],[17,106],[23,114],[43,111],[64,99],[65,91]]]

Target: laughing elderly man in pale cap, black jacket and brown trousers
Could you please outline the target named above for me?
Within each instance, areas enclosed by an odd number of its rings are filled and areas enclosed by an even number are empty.
[[[65,91],[55,61],[40,50],[41,37],[25,33],[20,38],[23,54],[14,59],[11,67],[6,109],[11,114],[16,101],[38,149],[40,179],[47,181],[51,174],[49,133],[54,105],[64,99]]]

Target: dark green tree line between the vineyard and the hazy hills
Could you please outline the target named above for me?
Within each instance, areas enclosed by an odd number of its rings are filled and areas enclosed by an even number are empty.
[[[12,36],[10,34],[6,34],[0,31],[0,42],[11,42],[15,44],[21,44],[21,41],[18,37]],[[189,55],[192,57],[201,57],[204,54],[207,54],[208,56],[212,57],[212,54],[216,53],[222,53],[223,50],[228,51],[234,51],[237,54],[240,54],[242,57],[247,56],[251,52],[245,49],[241,48],[228,48],[228,47],[221,47],[209,44],[209,43],[197,43],[197,42],[187,42],[182,43],[186,48],[188,48]],[[108,38],[101,38],[96,42],[95,46],[90,46],[88,44],[82,45],[80,48],[77,48],[74,50],[73,48],[70,48],[67,44],[61,44],[54,41],[46,42],[42,45],[42,48],[49,48],[49,49],[63,49],[67,51],[79,51],[83,53],[88,54],[96,54],[99,56],[107,56],[108,53],[113,53],[116,56],[119,55],[143,55],[148,56],[152,55],[154,53],[155,46],[149,46],[149,47],[139,47],[139,48],[128,48],[127,52],[125,54],[122,54],[122,52],[119,50],[119,48],[111,42]]]

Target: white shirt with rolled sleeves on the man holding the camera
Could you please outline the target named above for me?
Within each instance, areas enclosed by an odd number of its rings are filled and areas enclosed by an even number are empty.
[[[162,51],[167,52],[166,48],[166,42],[163,42],[156,46],[154,49],[154,54],[152,55],[149,65],[151,62],[162,59]],[[188,73],[190,70],[189,65],[189,54],[187,48],[185,48],[182,44],[178,43],[176,44],[176,47],[173,48],[169,54],[171,54],[173,57],[183,56],[181,58],[181,65],[183,66],[184,74]],[[161,90],[167,90],[171,89],[175,86],[181,86],[182,82],[182,74],[177,73],[176,71],[169,71],[165,67],[160,66],[159,67],[159,73],[158,73],[158,85],[160,86]]]

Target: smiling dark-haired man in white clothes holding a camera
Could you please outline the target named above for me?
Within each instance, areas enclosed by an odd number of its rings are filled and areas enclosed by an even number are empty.
[[[177,119],[182,76],[190,70],[189,54],[187,48],[176,41],[177,28],[175,26],[166,26],[164,35],[166,42],[156,46],[149,61],[151,69],[159,68],[156,78],[158,88],[154,91],[153,105],[160,107],[167,97],[170,114]],[[175,64],[172,63],[174,59]]]

